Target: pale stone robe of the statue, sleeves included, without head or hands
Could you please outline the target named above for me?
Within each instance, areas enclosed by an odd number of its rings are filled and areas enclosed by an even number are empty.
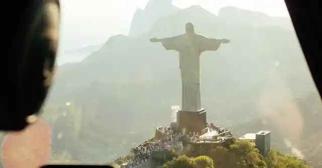
[[[161,42],[167,50],[179,52],[182,79],[181,110],[200,110],[200,54],[204,51],[216,51],[220,41],[199,34],[183,34],[164,38]]]

